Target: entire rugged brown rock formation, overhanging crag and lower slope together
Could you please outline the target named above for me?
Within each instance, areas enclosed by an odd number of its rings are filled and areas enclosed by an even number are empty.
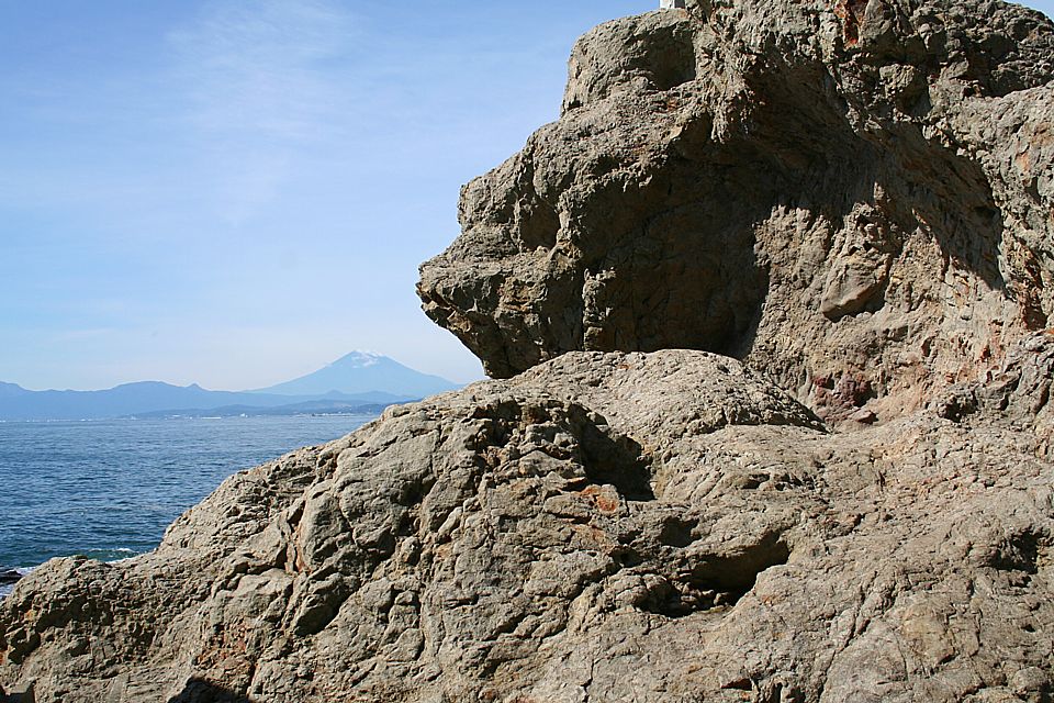
[[[503,380],[48,562],[0,695],[1054,699],[1054,26],[687,5],[582,38],[422,267]]]

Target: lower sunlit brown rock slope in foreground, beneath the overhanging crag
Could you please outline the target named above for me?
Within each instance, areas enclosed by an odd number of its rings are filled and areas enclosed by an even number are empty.
[[[730,358],[573,353],[226,481],[0,603],[36,701],[1040,702],[1054,336],[851,434]],[[950,413],[954,398],[973,398]],[[998,399],[1006,399],[1001,401]],[[990,402],[985,399],[990,399]],[[968,403],[967,403],[968,404]]]

